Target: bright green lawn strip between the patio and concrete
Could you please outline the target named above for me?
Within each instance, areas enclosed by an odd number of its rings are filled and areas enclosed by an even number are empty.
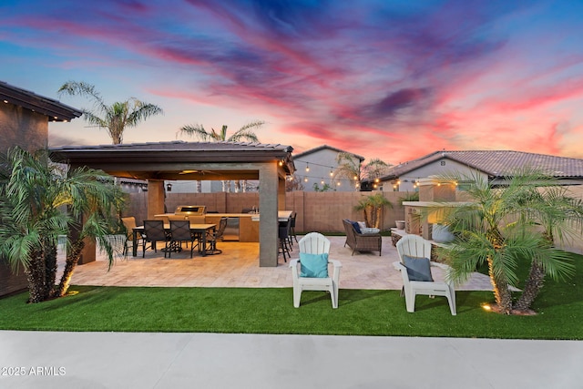
[[[484,311],[491,292],[456,292],[457,316],[445,298],[417,296],[407,313],[398,291],[340,291],[332,310],[324,292],[292,288],[123,288],[72,286],[77,294],[26,304],[27,293],[0,299],[0,329],[46,331],[298,333],[583,339],[583,257],[569,282],[548,281],[536,316]]]

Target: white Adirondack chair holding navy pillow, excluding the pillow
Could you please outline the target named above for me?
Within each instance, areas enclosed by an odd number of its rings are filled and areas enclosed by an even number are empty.
[[[409,274],[407,273],[407,268],[404,266],[404,255],[430,259],[431,242],[425,241],[418,235],[405,235],[401,240],[397,241],[396,246],[401,261],[394,262],[393,266],[396,270],[401,271],[401,276],[403,277],[404,300],[407,312],[415,311],[415,296],[417,294],[423,294],[430,297],[445,296],[447,302],[449,302],[450,311],[455,315],[455,289],[452,282],[409,281]],[[430,265],[432,267],[439,267],[444,271],[449,269],[449,266],[444,263],[431,261]]]

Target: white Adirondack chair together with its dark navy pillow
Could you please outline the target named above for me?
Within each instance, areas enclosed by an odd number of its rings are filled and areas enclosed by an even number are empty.
[[[445,296],[449,302],[449,309],[455,315],[455,289],[453,282],[435,282],[431,274],[431,267],[438,267],[444,271],[449,266],[444,263],[430,261],[431,242],[425,241],[418,235],[405,235],[396,244],[399,259],[393,263],[397,271],[401,271],[403,290],[407,312],[415,311],[415,296],[417,294],[429,297]]]

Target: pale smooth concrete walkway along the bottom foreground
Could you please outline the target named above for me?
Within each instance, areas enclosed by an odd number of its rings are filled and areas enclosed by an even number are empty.
[[[583,343],[0,331],[2,388],[580,388]],[[15,375],[18,371],[21,375]]]

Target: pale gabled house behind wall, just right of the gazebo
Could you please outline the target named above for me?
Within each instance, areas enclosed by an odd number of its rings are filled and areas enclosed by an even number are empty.
[[[358,166],[363,163],[364,157],[328,145],[294,155],[293,162],[297,169],[295,176],[302,182],[303,190],[314,191],[316,187],[322,189],[327,185],[330,190],[354,191],[357,181],[346,177],[335,177],[335,170],[338,169],[336,158],[341,153],[350,155]]]

